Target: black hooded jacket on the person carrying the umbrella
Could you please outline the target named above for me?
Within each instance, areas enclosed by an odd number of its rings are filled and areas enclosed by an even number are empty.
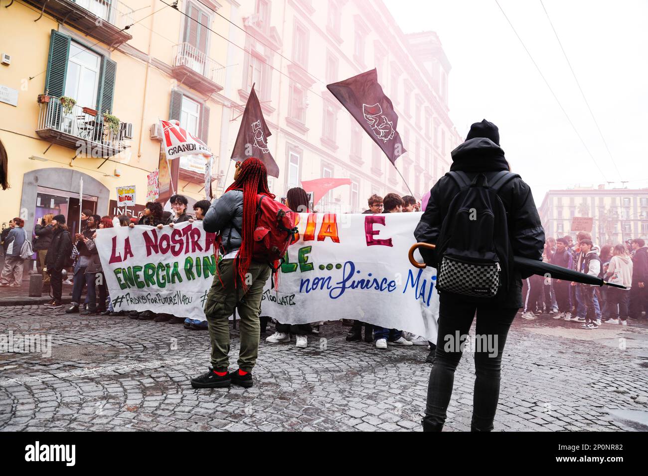
[[[491,139],[475,137],[463,142],[452,151],[450,170],[461,170],[468,176],[482,172],[487,179],[501,170],[509,170],[504,151]],[[441,232],[441,225],[448,212],[448,205],[459,192],[459,186],[449,176],[443,176],[430,191],[430,201],[421,216],[421,221],[414,231],[417,242],[435,244]],[[505,184],[498,196],[506,209],[509,221],[509,238],[513,255],[542,260],[544,250],[544,229],[540,223],[538,209],[531,195],[531,188],[519,177]],[[434,251],[421,250],[421,255],[428,264],[436,264],[438,258]],[[522,275],[513,269],[509,275],[509,293],[502,301],[503,308],[522,307]]]

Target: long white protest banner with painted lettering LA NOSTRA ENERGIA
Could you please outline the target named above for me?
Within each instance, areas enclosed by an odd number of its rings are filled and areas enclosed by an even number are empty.
[[[408,260],[420,218],[421,213],[299,214],[299,236],[281,265],[277,289],[266,283],[262,315],[289,324],[358,319],[435,341],[436,272]],[[203,304],[216,275],[214,238],[202,221],[161,231],[147,226],[98,231],[115,310],[204,320]]]

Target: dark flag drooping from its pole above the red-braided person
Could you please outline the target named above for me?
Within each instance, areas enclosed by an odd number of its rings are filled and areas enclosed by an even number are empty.
[[[279,166],[272,158],[268,147],[270,135],[272,134],[266,120],[263,119],[261,104],[254,91],[254,85],[252,85],[248,104],[245,106],[241,126],[238,129],[237,142],[232,151],[232,160],[244,161],[248,157],[257,157],[265,164],[269,176],[279,177]]]

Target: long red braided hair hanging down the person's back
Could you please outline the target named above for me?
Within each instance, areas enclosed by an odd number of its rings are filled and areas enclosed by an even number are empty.
[[[275,195],[268,189],[268,169],[257,157],[249,157],[240,164],[240,173],[238,179],[232,185],[227,187],[229,190],[242,190],[243,192],[243,226],[241,227],[241,247],[236,257],[236,273],[234,283],[236,286],[237,275],[243,284],[246,284],[245,275],[248,273],[249,264],[252,261],[252,251],[254,247],[254,227],[257,218],[257,195],[263,194],[272,199]],[[218,238],[220,247],[220,237]]]

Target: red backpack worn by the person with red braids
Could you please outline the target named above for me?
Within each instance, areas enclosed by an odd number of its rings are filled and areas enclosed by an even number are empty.
[[[288,245],[295,241],[295,212],[266,195],[259,194],[257,198],[252,259],[268,263],[273,271],[277,271]]]

